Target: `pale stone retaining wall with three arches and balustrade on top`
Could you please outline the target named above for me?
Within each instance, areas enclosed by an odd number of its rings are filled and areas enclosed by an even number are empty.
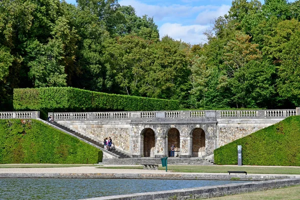
[[[116,149],[131,157],[165,157],[174,143],[180,158],[209,156],[215,148],[299,114],[299,107],[48,113],[56,122],[99,142],[110,136]]]

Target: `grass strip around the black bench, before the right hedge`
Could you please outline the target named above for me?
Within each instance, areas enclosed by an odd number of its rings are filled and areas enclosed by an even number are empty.
[[[134,168],[142,169],[142,166],[107,166],[105,168]],[[165,167],[158,167],[159,170],[165,170]],[[201,172],[201,173],[227,173],[227,171],[247,171],[247,173],[265,173],[265,174],[300,174],[300,167],[286,166],[223,166],[223,165],[168,165],[168,171],[174,172]]]

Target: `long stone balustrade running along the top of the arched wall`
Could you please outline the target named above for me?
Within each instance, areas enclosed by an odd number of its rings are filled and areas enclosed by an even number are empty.
[[[131,111],[131,112],[49,112],[54,120],[130,120],[147,118],[285,118],[300,115],[296,109],[249,109],[249,110],[184,110],[184,111]],[[0,115],[1,116],[1,115]]]

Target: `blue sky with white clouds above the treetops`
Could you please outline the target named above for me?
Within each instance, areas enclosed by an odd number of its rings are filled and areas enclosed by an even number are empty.
[[[190,44],[205,43],[203,32],[211,29],[214,19],[227,13],[232,0],[118,0],[131,5],[136,14],[153,17],[160,37],[168,35]],[[260,0],[263,3],[263,0]],[[289,0],[289,2],[294,0]],[[75,4],[75,0],[66,0]]]

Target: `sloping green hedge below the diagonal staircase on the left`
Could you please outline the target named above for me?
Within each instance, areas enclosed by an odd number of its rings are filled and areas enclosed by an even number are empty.
[[[102,151],[38,120],[0,119],[0,163],[93,164]]]

